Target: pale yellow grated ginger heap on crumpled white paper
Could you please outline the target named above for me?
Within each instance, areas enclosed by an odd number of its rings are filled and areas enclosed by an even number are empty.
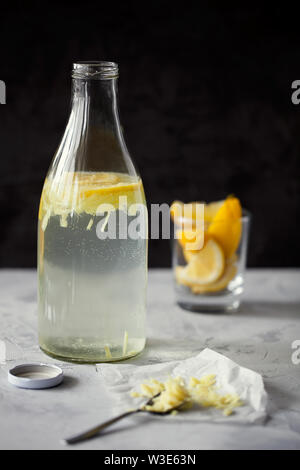
[[[214,374],[200,379],[190,377],[188,385],[182,377],[169,377],[164,383],[151,379],[148,383],[141,384],[140,389],[141,393],[132,392],[131,396],[151,398],[159,394],[153,399],[152,405],[144,406],[145,410],[154,412],[165,412],[172,408],[186,409],[196,404],[221,409],[225,416],[229,416],[235,408],[243,405],[238,395],[221,395],[218,392]]]

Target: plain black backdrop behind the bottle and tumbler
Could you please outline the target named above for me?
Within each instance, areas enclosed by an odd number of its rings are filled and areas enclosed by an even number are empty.
[[[253,213],[250,266],[299,266],[300,15],[201,2],[1,4],[0,266],[36,264],[43,179],[76,60],[114,60],[129,150],[148,203],[217,200]],[[150,266],[169,266],[151,241]]]

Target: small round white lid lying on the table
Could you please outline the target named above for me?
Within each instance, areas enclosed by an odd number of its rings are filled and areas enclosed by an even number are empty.
[[[8,371],[8,381],[20,388],[50,388],[60,384],[63,371],[52,364],[20,364]]]

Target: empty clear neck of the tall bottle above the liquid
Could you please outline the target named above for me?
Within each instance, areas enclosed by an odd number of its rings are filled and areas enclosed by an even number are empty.
[[[53,171],[115,171],[135,174],[117,105],[117,65],[73,64],[71,113]]]

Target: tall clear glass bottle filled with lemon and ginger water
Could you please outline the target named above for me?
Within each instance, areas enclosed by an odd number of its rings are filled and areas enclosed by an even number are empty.
[[[41,196],[39,344],[63,360],[120,360],[145,345],[146,203],[117,77],[113,62],[73,64],[71,113]]]

